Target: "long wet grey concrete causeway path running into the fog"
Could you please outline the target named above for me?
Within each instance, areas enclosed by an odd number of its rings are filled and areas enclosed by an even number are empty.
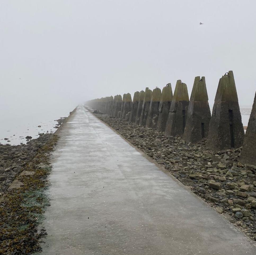
[[[58,132],[40,254],[256,254],[244,234],[83,106]]]

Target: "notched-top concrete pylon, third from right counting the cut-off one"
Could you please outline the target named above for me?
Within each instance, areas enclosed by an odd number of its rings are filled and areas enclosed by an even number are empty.
[[[205,77],[202,76],[200,79],[200,76],[197,76],[190,96],[183,139],[186,142],[197,143],[207,137],[210,119],[211,111]]]

